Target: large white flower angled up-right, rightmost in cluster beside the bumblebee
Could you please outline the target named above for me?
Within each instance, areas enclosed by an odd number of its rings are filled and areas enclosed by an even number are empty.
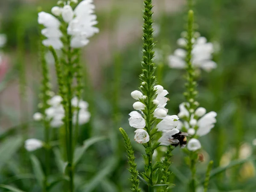
[[[217,113],[214,111],[211,111],[202,116],[201,119],[198,120],[198,130],[196,131],[196,134],[200,137],[208,134],[214,127],[214,123],[216,122],[216,116]]]

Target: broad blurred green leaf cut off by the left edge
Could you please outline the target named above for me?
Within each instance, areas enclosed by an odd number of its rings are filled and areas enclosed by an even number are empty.
[[[0,170],[23,144],[21,136],[9,138],[0,145]]]

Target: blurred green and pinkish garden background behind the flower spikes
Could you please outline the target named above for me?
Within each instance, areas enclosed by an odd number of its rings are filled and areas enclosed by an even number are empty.
[[[156,48],[170,55],[186,26],[186,1],[154,0],[153,3],[158,32]],[[198,175],[203,178],[209,160],[214,160],[217,168],[244,158],[241,151],[249,151],[247,156],[256,152],[252,145],[256,138],[256,1],[195,0],[194,4],[196,30],[221,47],[214,56],[217,69],[211,73],[202,71],[198,76],[198,102],[207,111],[218,113],[215,128],[201,138],[205,161],[198,165]],[[37,10],[41,6],[50,12],[55,5],[55,0],[0,1],[0,33],[8,37],[3,49],[8,71],[0,82],[0,143],[20,134],[43,139],[42,125],[32,121],[38,109],[41,81]],[[130,93],[138,89],[140,83],[143,0],[95,0],[95,5],[100,33],[90,39],[82,59],[83,97],[90,104],[92,117],[90,123],[82,127],[79,140],[82,143],[94,135],[108,135],[111,139],[94,145],[84,155],[76,170],[76,186],[79,192],[128,192],[128,164],[118,128],[123,127],[130,138],[134,137],[128,113],[133,110],[134,102]],[[166,59],[156,64],[160,66],[158,81],[169,91],[169,114],[177,114],[178,105],[184,101],[184,71],[170,69]],[[51,62],[49,65],[56,92],[54,65]],[[138,169],[142,170],[143,148],[135,142],[132,144]],[[0,183],[38,192],[40,188],[22,145],[13,151],[8,161],[0,162]],[[175,186],[170,192],[185,192],[189,169],[181,150],[177,148],[174,153],[171,180]],[[35,154],[42,156],[40,151]],[[54,158],[52,162],[54,170]],[[255,161],[251,161],[212,177],[209,191],[256,192],[255,180]],[[56,185],[52,191],[58,189]]]

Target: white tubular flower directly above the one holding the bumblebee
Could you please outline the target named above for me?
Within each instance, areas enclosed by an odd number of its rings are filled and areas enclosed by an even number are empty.
[[[176,128],[179,123],[178,119],[179,118],[177,115],[164,117],[163,120],[157,124],[158,131],[171,130],[173,128]]]

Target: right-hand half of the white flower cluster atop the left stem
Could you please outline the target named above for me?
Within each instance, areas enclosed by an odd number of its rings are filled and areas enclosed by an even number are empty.
[[[98,23],[94,9],[93,0],[83,0],[76,6],[75,17],[67,28],[68,34],[73,36],[71,47],[84,47],[89,42],[88,38],[99,32],[99,29],[94,26]]]

